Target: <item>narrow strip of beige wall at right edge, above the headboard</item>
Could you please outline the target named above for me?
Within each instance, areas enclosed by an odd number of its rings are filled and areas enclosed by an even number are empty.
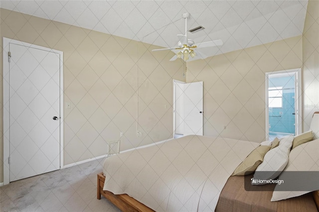
[[[319,111],[319,1],[310,0],[303,32],[304,130]]]

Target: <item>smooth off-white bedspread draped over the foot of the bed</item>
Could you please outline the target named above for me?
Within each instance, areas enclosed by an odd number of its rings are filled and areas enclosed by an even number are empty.
[[[188,135],[105,160],[104,190],[155,211],[214,211],[229,176],[259,144]]]

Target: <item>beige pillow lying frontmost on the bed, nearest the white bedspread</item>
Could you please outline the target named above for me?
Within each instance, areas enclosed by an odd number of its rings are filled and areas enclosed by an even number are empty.
[[[245,160],[237,166],[232,176],[243,176],[254,173],[256,168],[263,162],[265,154],[270,150],[271,146],[258,146],[254,149]]]

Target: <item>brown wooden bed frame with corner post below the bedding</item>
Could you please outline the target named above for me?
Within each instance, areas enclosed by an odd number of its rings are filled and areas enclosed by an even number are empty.
[[[154,212],[149,207],[135,200],[127,194],[115,195],[109,191],[103,191],[105,176],[103,173],[98,174],[97,199],[101,200],[101,195],[113,203],[123,212]],[[314,201],[319,211],[319,191],[312,193]]]

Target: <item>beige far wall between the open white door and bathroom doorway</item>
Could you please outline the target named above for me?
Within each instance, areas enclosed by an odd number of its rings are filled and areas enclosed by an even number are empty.
[[[265,140],[265,73],[302,67],[302,36],[187,63],[204,82],[204,135]]]

